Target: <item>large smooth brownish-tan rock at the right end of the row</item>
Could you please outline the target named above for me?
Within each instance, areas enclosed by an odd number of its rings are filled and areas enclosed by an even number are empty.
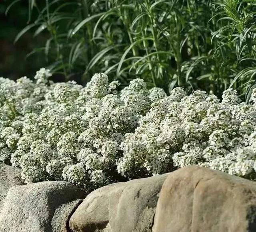
[[[153,232],[256,231],[256,182],[189,166],[162,186]]]

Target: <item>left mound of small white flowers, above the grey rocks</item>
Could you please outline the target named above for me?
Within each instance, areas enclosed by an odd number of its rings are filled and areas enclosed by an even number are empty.
[[[118,81],[108,83],[104,74],[84,88],[53,83],[50,76],[41,69],[34,82],[0,79],[0,161],[20,167],[27,183],[98,186],[122,179],[120,144],[164,91],[136,79],[118,94]]]

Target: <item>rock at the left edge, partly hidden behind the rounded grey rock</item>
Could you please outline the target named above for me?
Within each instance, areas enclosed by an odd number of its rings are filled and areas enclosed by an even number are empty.
[[[10,187],[23,184],[20,180],[20,169],[0,162],[0,212]]]

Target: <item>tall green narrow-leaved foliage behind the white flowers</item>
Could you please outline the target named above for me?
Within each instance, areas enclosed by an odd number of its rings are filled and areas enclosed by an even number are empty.
[[[137,76],[169,93],[175,86],[218,97],[228,86],[247,93],[255,74],[255,2],[248,0],[29,0],[53,72],[67,79],[95,72]],[[247,99],[249,99],[249,95]]]

